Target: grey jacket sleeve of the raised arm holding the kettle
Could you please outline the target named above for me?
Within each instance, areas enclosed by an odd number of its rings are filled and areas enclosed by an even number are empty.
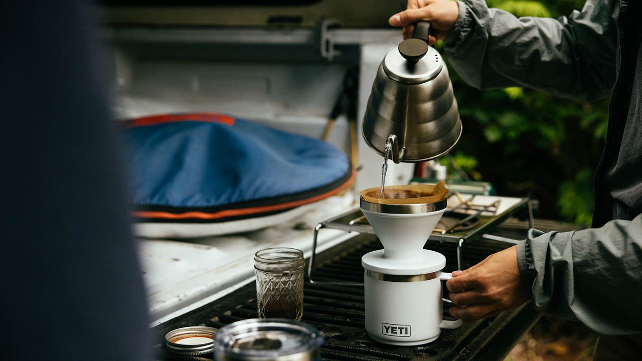
[[[611,92],[618,15],[612,1],[589,0],[582,12],[557,20],[518,19],[482,0],[458,3],[459,17],[444,48],[468,84],[477,89],[523,85],[580,100]]]

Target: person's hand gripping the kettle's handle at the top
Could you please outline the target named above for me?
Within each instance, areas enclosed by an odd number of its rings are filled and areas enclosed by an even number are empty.
[[[448,32],[453,28],[459,16],[459,4],[451,0],[408,0],[408,9],[390,17],[390,25],[403,26],[403,37],[408,39],[415,32],[415,22],[428,21],[433,29],[438,30],[437,37],[446,39]],[[433,45],[437,39],[432,35],[429,44]]]

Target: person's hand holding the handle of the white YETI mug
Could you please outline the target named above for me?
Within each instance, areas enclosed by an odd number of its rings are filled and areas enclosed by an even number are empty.
[[[491,254],[473,267],[453,272],[446,282],[455,307],[450,314],[475,321],[516,308],[531,298],[517,265],[517,246]]]

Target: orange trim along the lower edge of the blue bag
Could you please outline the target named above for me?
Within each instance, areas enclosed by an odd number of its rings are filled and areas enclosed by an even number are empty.
[[[339,188],[335,188],[331,191],[317,195],[312,198],[293,200],[292,202],[282,203],[282,204],[273,204],[272,206],[249,207],[249,208],[241,208],[241,209],[226,209],[225,211],[218,211],[215,213],[206,213],[206,212],[169,213],[169,212],[159,212],[159,211],[139,211],[139,212],[134,212],[134,216],[137,218],[165,218],[165,219],[185,219],[185,218],[219,219],[219,218],[225,218],[225,217],[245,216],[245,215],[252,215],[255,213],[279,211],[281,209],[298,207],[298,206],[302,206],[303,204],[308,204],[323,198],[330,197],[331,195],[334,195],[342,191],[343,189],[347,188],[347,186],[349,186],[352,183],[355,176],[356,176],[356,170],[352,168],[352,175]]]

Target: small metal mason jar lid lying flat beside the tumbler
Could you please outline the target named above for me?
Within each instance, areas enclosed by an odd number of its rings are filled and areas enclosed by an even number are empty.
[[[165,335],[165,345],[168,351],[178,355],[205,355],[214,349],[216,331],[216,328],[207,326],[177,328]]]

